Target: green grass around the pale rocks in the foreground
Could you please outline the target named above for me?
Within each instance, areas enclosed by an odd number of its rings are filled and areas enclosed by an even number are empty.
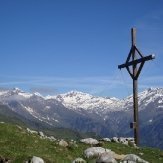
[[[7,157],[15,163],[22,163],[38,156],[46,163],[70,163],[77,157],[83,156],[83,151],[89,146],[77,143],[78,147],[60,147],[57,142],[43,140],[38,135],[28,134],[26,129],[20,129],[11,124],[0,124],[0,156]],[[162,163],[163,151],[152,148],[135,149],[117,143],[105,143],[104,148],[109,148],[118,154],[134,153],[150,163]],[[140,153],[143,153],[141,156]],[[92,160],[87,160],[89,163]]]

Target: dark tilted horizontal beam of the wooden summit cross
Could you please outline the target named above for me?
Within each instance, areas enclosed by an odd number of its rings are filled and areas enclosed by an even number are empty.
[[[121,65],[118,65],[118,68],[121,69],[121,68],[129,67],[129,66],[132,66],[132,65],[136,65],[138,63],[141,63],[141,62],[152,60],[154,58],[155,58],[155,55],[153,55],[153,54],[152,55],[148,55],[146,57],[142,57],[140,59],[136,59],[134,61],[131,61],[131,62],[127,62],[127,63],[121,64]]]

